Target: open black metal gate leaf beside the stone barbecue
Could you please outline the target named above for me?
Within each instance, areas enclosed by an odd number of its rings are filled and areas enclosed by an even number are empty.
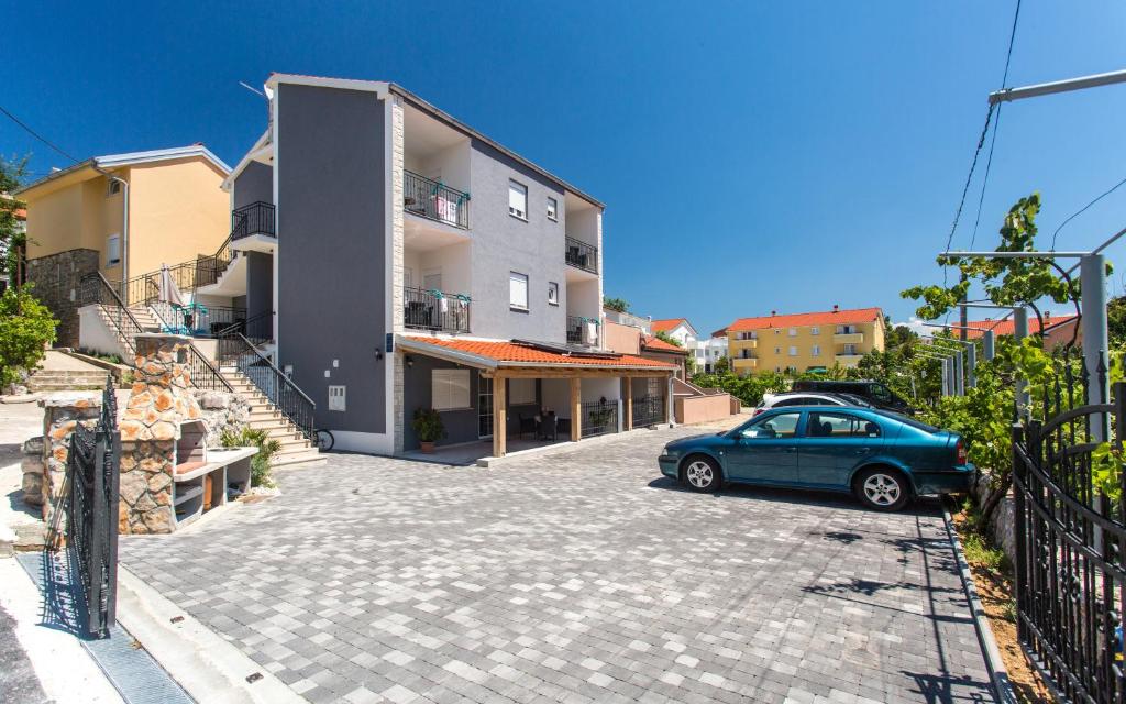
[[[101,393],[101,412],[93,427],[79,422],[66,456],[63,511],[72,574],[82,594],[89,635],[104,638],[116,620],[117,506],[120,482],[120,436],[114,380]]]

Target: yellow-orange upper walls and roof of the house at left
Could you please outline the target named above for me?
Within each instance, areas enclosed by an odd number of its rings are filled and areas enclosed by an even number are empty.
[[[128,217],[123,219],[128,184]],[[231,233],[231,168],[202,144],[95,157],[35,181],[27,203],[27,259],[98,252],[110,282],[214,253]]]

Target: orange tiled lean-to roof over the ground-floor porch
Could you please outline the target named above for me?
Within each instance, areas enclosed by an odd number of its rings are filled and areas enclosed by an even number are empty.
[[[676,365],[645,359],[633,355],[605,354],[569,354],[529,342],[508,340],[470,340],[434,337],[404,336],[401,338],[404,349],[418,353],[441,353],[463,358],[467,364],[497,367],[574,367],[582,369],[652,369],[654,372],[674,372]],[[428,349],[429,348],[429,349]]]

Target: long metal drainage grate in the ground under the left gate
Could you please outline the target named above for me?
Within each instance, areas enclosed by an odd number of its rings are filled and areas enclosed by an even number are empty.
[[[176,680],[141,648],[122,626],[109,629],[109,638],[90,640],[80,623],[81,609],[74,608],[75,591],[80,589],[70,578],[68,559],[63,553],[20,553],[20,565],[43,595],[43,625],[72,633],[82,642],[93,661],[106,674],[128,704],[193,704],[194,699]]]

